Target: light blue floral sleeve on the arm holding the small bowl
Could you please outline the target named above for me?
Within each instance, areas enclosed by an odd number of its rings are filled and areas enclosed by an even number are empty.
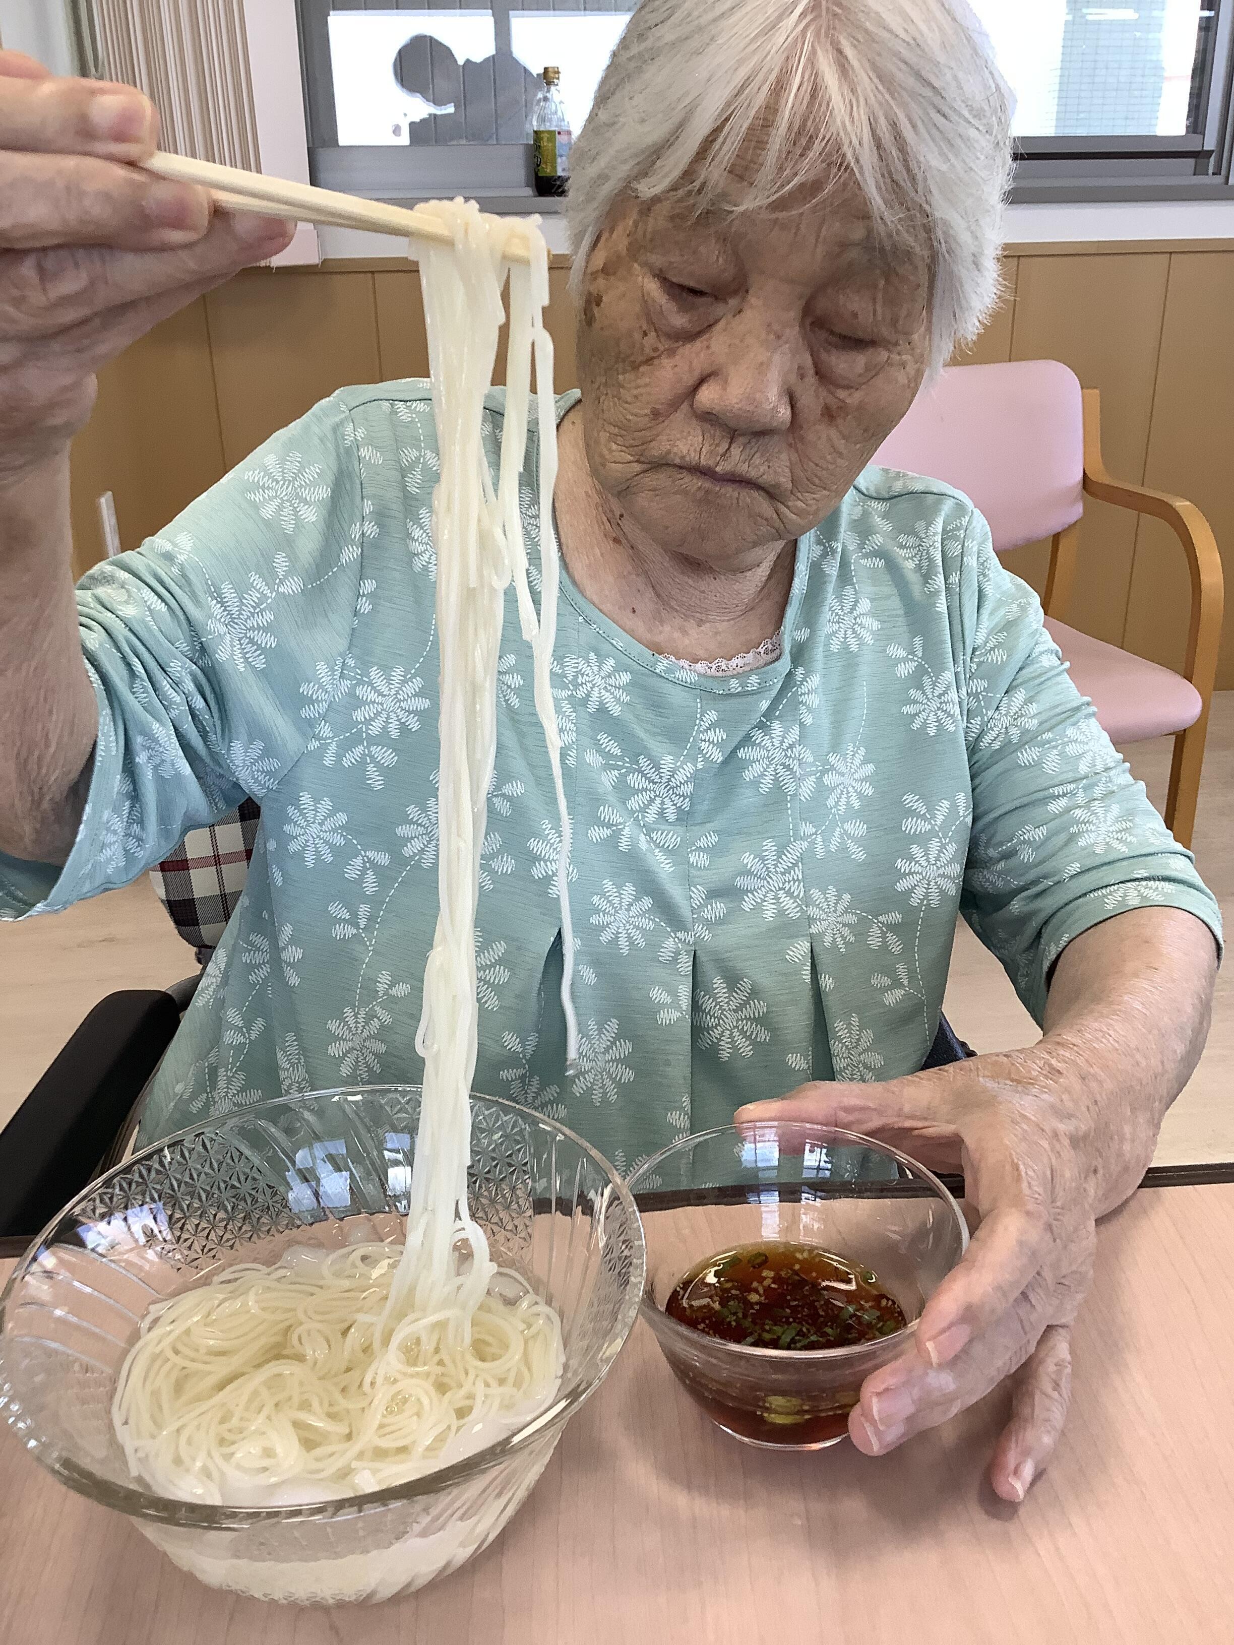
[[[961,910],[1040,1023],[1050,969],[1129,908],[1221,913],[1071,683],[1037,595],[999,563],[981,515],[959,571],[956,674],[972,781]]]

